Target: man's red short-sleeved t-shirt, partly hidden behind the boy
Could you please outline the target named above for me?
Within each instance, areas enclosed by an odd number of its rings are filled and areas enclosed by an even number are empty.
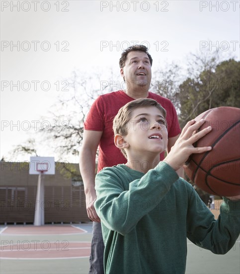
[[[166,122],[168,137],[175,137],[180,132],[180,126],[174,106],[169,99],[149,92],[148,98],[154,99],[166,110]],[[126,163],[127,160],[120,149],[114,144],[113,119],[119,109],[134,99],[129,97],[122,90],[99,96],[92,104],[84,122],[84,130],[103,132],[99,143],[99,155],[97,172],[105,166],[113,166]],[[164,158],[164,152],[160,159]]]

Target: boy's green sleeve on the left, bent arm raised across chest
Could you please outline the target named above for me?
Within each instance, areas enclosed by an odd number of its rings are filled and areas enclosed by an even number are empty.
[[[122,235],[129,233],[143,216],[156,207],[156,200],[164,197],[178,175],[168,164],[160,162],[155,169],[130,182],[127,191],[122,183],[126,179],[120,178],[113,168],[104,168],[95,178],[96,212],[108,229]],[[140,201],[143,200],[149,205],[147,210],[141,208]]]

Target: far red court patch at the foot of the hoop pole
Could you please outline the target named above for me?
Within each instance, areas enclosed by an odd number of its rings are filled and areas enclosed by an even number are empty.
[[[44,226],[14,226],[7,227],[2,235],[55,235],[55,234],[81,234],[85,230],[74,226],[44,225]]]

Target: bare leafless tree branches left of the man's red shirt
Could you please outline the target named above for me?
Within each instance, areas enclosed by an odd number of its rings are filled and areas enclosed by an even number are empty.
[[[116,79],[116,80],[115,80]],[[101,73],[94,76],[74,71],[69,82],[69,91],[61,94],[59,102],[52,107],[48,117],[51,127],[41,129],[44,140],[51,139],[56,153],[61,155],[79,155],[82,142],[83,123],[91,104],[97,96],[112,91],[118,85],[118,77],[112,70],[109,78],[103,78]]]

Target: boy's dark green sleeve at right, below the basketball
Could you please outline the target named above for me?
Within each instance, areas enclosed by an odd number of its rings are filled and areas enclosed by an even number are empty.
[[[187,215],[188,239],[215,254],[226,254],[240,235],[240,201],[231,201],[224,197],[220,216],[215,220],[192,188]]]

